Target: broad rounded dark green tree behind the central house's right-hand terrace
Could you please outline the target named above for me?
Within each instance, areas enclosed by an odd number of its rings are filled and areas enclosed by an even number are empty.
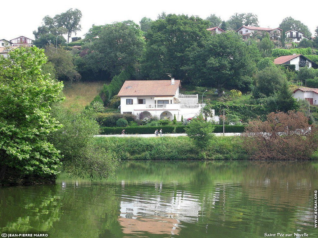
[[[190,62],[183,67],[189,75],[205,86],[248,90],[252,80],[252,64],[247,45],[234,31],[211,36],[204,46],[190,50]],[[196,82],[193,82],[196,83]]]

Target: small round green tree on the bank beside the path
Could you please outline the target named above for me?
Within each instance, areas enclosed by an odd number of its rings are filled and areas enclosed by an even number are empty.
[[[189,125],[185,128],[185,133],[194,140],[194,143],[200,150],[208,147],[213,138],[214,127],[211,122],[206,122],[203,117],[192,119]]]

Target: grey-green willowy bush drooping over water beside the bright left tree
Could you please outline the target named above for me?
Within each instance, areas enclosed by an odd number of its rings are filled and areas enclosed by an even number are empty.
[[[49,141],[61,152],[62,168],[74,177],[108,178],[118,166],[117,157],[95,145],[94,135],[99,125],[91,111],[74,113],[61,106],[52,115],[63,125],[49,136]]]

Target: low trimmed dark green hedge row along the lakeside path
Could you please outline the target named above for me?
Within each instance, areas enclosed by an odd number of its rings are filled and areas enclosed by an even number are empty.
[[[223,125],[214,125],[215,133],[223,132]],[[185,133],[186,126],[134,126],[134,127],[101,127],[100,135],[115,135],[121,134],[121,131],[125,129],[125,134],[154,134],[156,129],[162,129],[165,133]],[[244,132],[244,125],[225,125],[226,133],[238,133]]]

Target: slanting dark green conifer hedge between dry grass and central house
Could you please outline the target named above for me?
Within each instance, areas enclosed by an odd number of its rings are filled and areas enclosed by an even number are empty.
[[[129,80],[130,73],[128,70],[122,71],[119,75],[113,77],[109,84],[104,84],[103,88],[100,90],[100,97],[104,104],[108,104],[113,96],[117,95],[121,86],[126,80]]]

